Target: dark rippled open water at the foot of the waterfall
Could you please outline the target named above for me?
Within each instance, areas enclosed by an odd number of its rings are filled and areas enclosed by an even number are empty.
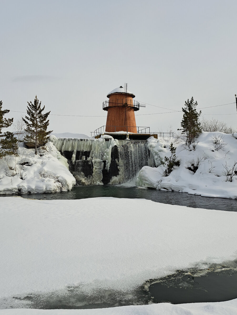
[[[43,200],[83,199],[94,197],[144,198],[155,202],[176,204],[193,208],[237,211],[236,199],[209,198],[197,195],[189,195],[183,192],[161,191],[157,189],[143,189],[138,187],[124,187],[120,185],[75,186],[69,192],[22,194],[21,196],[23,198]]]

